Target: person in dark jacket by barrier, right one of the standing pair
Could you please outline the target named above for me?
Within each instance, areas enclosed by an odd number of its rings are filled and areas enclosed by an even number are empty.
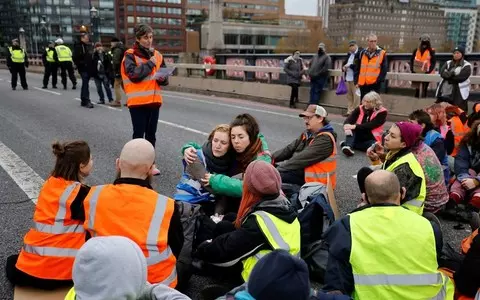
[[[310,76],[310,102],[318,104],[325,83],[328,81],[328,70],[332,68],[332,59],[326,53],[325,44],[318,44],[318,52],[310,62],[308,75]]]

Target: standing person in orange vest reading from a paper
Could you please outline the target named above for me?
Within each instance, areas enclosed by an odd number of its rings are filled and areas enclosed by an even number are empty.
[[[166,67],[163,56],[152,47],[153,29],[147,24],[135,27],[136,42],[122,60],[121,75],[127,94],[127,106],[133,125],[133,138],[145,138],[155,147],[162,85],[168,77],[156,77],[160,68]],[[153,175],[160,171],[154,166]]]

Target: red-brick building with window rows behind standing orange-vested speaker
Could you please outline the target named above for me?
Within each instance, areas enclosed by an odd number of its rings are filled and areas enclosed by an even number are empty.
[[[153,27],[153,44],[157,50],[163,53],[185,51],[186,0],[116,1],[118,36],[128,47],[135,42],[135,25],[146,23]]]

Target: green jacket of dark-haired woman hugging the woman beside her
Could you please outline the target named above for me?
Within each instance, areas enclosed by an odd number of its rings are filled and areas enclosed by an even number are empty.
[[[255,160],[263,160],[268,163],[272,163],[272,157],[269,155],[269,148],[267,141],[263,134],[259,134],[258,137],[262,141],[262,148],[264,154],[259,155]],[[188,142],[182,147],[182,155],[187,148],[193,147],[195,149],[201,149],[202,146],[195,142]],[[210,187],[214,194],[223,195],[228,197],[241,198],[242,197],[242,185],[243,181],[237,178],[233,178],[222,174],[212,174],[210,177]]]

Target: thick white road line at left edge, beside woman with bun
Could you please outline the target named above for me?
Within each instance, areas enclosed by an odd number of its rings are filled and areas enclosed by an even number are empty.
[[[0,142],[0,166],[27,194],[27,197],[37,204],[38,194],[44,180],[2,142]]]

